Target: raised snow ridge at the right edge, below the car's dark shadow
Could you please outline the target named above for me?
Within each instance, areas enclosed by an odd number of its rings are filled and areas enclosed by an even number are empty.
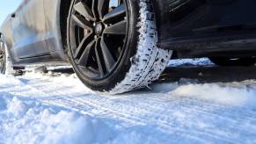
[[[245,105],[256,108],[256,89],[232,88],[218,84],[187,84],[172,91],[173,95],[197,97],[219,104]]]

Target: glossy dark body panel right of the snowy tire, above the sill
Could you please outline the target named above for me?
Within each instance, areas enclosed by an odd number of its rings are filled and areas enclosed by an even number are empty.
[[[254,0],[154,1],[160,47],[206,47],[202,43],[256,38]]]

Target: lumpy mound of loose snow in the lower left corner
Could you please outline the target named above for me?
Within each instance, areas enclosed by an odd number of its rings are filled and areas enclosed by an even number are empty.
[[[1,99],[1,135],[4,143],[103,143],[110,128],[77,112],[45,107],[18,97]]]

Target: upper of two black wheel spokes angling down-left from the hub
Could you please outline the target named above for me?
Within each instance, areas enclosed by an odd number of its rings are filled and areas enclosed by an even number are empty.
[[[84,39],[80,42],[79,46],[77,47],[77,50],[75,51],[75,59],[77,59],[84,52],[84,47],[86,47],[86,45],[88,45],[88,43],[90,43],[92,39],[92,32],[89,33],[86,37],[84,37]]]

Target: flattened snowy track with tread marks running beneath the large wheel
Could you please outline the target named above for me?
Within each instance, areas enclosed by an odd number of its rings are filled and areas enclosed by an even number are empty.
[[[171,138],[237,143],[256,136],[256,116],[252,110],[194,97],[172,96],[170,92],[135,92],[120,97],[97,95],[77,89],[77,85],[55,82],[58,77],[46,77],[22,76],[23,86],[14,87],[16,90],[11,92],[44,104],[111,118],[120,121],[123,127],[155,127],[153,131],[161,131]]]

